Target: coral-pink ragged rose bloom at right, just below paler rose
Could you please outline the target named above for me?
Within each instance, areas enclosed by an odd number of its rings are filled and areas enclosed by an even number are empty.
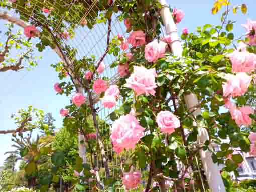
[[[254,113],[254,110],[249,106],[243,106],[237,108],[235,103],[231,102],[230,99],[225,100],[225,107],[229,110],[231,117],[235,120],[238,126],[251,125],[250,114]]]

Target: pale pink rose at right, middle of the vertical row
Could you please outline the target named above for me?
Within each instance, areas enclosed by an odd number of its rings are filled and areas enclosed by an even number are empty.
[[[237,73],[236,75],[227,74],[225,78],[227,82],[222,85],[224,97],[244,95],[252,79],[246,73]]]

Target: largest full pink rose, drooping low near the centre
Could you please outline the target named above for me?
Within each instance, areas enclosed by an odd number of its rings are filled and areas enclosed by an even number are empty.
[[[113,122],[111,129],[111,141],[116,153],[124,149],[134,149],[136,143],[144,135],[144,128],[140,126],[139,121],[131,114],[122,115]]]

